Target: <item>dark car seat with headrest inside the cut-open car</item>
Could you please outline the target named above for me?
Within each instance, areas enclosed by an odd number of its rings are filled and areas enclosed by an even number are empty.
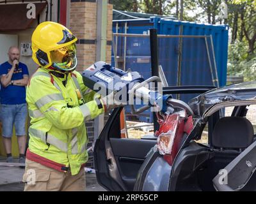
[[[172,190],[215,191],[212,179],[253,143],[253,134],[248,119],[222,117],[213,128],[209,147],[192,141],[179,154],[172,173]]]

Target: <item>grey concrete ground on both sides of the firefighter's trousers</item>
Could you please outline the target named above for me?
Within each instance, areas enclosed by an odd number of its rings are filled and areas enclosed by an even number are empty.
[[[0,162],[5,159],[0,159]],[[16,161],[17,162],[17,161]],[[0,166],[0,191],[23,191],[24,168]],[[86,173],[86,191],[106,191],[97,183],[95,173]]]

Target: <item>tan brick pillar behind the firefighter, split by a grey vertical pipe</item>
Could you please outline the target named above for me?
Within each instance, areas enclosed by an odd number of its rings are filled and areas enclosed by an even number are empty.
[[[111,3],[111,2],[110,2]],[[106,62],[111,62],[111,41],[112,41],[112,16],[113,4],[108,3],[108,25],[107,25],[107,46]],[[96,61],[97,47],[97,1],[96,0],[70,0],[70,31],[77,38],[77,71],[81,72]],[[104,120],[108,119],[105,115]],[[89,137],[88,148],[93,142],[93,120],[86,122],[86,129]],[[92,152],[89,152],[89,160],[86,164],[93,167]]]

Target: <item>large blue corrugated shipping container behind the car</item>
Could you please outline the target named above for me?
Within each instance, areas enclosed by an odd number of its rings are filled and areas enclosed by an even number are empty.
[[[125,33],[125,24],[127,34],[148,34],[149,29],[156,28],[158,34],[172,35],[172,38],[159,38],[158,40],[159,65],[162,66],[169,85],[217,85],[218,83],[223,86],[226,84],[227,25],[196,24],[152,17],[150,19],[113,20],[113,33],[116,33],[116,25],[118,33]],[[192,37],[179,38],[179,35]],[[118,37],[117,55],[120,59],[123,57],[120,62],[124,62],[126,52],[125,69],[131,68],[132,71],[138,71],[144,78],[151,77],[149,37],[127,37],[126,39],[125,48],[124,37]],[[180,39],[182,39],[181,44]],[[120,64],[115,64],[113,51],[111,63],[113,66],[122,68],[122,65],[120,67]],[[178,68],[180,68],[179,76]],[[218,82],[216,75],[218,75]],[[179,82],[178,78],[180,78]],[[189,94],[189,96],[181,96],[180,99],[188,102],[193,96],[195,95]],[[148,118],[145,121],[148,122]]]

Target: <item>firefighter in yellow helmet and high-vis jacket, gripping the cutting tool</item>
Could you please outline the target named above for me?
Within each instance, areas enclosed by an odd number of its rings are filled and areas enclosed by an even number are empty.
[[[32,35],[33,60],[40,67],[26,94],[31,125],[24,191],[84,191],[88,136],[84,121],[114,108],[84,86],[75,71],[76,41],[67,27],[39,24]]]

